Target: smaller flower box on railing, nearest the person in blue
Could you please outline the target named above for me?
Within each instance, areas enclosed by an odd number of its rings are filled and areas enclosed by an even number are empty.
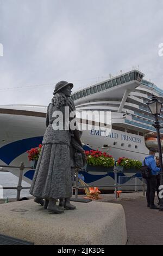
[[[120,157],[118,158],[116,165],[123,166],[126,169],[130,169],[130,168],[140,169],[142,166],[142,162],[140,162],[139,160]]]

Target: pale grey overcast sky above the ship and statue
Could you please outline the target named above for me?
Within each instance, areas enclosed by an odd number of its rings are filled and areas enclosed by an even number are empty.
[[[133,66],[163,89],[160,43],[162,0],[0,0],[0,104],[47,105],[60,80],[77,91]]]

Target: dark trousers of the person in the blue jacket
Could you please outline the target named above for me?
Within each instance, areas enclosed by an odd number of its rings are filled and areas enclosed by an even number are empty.
[[[156,186],[157,186],[157,178],[155,175],[152,175],[151,178],[146,179],[146,182],[147,182],[147,192],[146,192],[147,203],[148,203],[148,205],[153,206],[155,190],[156,190]]]

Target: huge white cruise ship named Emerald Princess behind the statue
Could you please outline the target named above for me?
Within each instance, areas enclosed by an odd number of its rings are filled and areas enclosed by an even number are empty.
[[[109,134],[97,129],[83,130],[85,150],[101,150],[119,157],[143,160],[149,147],[157,147],[154,118],[147,102],[152,94],[163,100],[163,91],[138,70],[110,78],[72,94],[78,111],[111,111]],[[27,150],[42,142],[47,106],[0,106],[0,165],[30,165]],[[163,110],[160,115],[163,124]],[[82,122],[82,120],[79,120]],[[163,130],[160,131],[163,136]],[[162,144],[163,146],[163,144]],[[18,175],[18,169],[4,168]],[[24,170],[23,179],[31,183],[34,171]],[[114,184],[113,174],[81,172],[86,183]]]

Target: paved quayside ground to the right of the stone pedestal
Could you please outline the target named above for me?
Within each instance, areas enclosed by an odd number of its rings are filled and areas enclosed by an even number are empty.
[[[83,198],[83,195],[79,196],[81,197]],[[126,215],[127,245],[163,245],[163,212],[149,209],[142,193],[121,194],[117,200],[114,195],[105,194],[99,201],[123,206]],[[155,202],[158,202],[157,198]]]

